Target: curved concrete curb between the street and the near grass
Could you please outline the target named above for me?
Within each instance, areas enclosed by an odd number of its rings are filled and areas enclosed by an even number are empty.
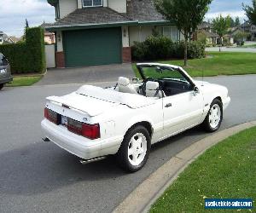
[[[151,205],[160,198],[160,195],[177,179],[177,176],[208,148],[241,130],[247,130],[254,126],[256,126],[256,121],[239,124],[196,141],[148,176],[113,210],[113,213],[148,212]]]

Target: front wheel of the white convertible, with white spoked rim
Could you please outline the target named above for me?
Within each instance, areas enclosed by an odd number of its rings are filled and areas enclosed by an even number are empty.
[[[222,102],[218,99],[212,101],[207,117],[203,122],[205,130],[208,132],[217,131],[223,119],[223,106]]]

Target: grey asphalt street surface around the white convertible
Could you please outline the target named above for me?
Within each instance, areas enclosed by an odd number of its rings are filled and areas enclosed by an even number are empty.
[[[222,130],[256,119],[256,75],[204,80],[230,89]],[[42,141],[40,128],[45,97],[78,88],[59,84],[0,91],[0,212],[111,212],[162,164],[209,135],[197,127],[154,145],[148,163],[134,174],[119,169],[114,158],[79,164],[72,154]]]

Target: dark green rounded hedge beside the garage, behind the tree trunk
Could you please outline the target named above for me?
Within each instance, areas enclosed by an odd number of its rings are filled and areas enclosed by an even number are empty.
[[[206,43],[190,42],[188,44],[188,58],[202,58],[205,53]],[[184,43],[173,43],[168,37],[148,37],[144,42],[135,42],[131,48],[132,60],[166,60],[183,59]]]

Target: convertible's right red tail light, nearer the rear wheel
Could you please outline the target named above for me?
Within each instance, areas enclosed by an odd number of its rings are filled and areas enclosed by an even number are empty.
[[[85,124],[72,118],[67,118],[67,130],[92,140],[100,137],[99,124]]]

